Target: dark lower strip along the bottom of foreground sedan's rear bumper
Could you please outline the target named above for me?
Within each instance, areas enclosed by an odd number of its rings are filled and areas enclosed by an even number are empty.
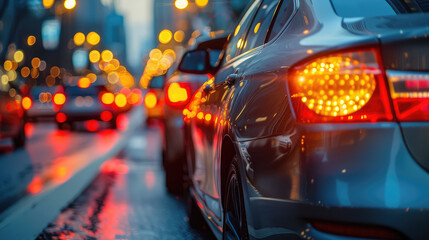
[[[429,236],[429,209],[388,209],[325,207],[299,201],[252,198],[253,239],[365,239],[316,229],[312,223],[347,223],[365,231],[366,227],[396,234],[401,239]],[[341,224],[338,225],[341,228]],[[341,231],[342,229],[338,229]]]

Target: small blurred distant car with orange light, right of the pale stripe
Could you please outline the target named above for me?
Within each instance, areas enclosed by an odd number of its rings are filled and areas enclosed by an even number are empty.
[[[165,75],[153,77],[148,86],[148,91],[144,97],[147,121],[161,119],[164,116],[164,99],[162,92],[164,88]]]

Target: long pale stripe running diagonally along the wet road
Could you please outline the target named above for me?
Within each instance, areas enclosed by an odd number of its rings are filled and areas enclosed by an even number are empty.
[[[136,107],[128,114],[128,129],[121,133],[117,144],[105,155],[91,161],[67,181],[48,186],[39,195],[26,195],[1,213],[0,239],[35,239],[93,181],[103,162],[118,155],[125,147],[129,136],[143,122],[141,109]]]

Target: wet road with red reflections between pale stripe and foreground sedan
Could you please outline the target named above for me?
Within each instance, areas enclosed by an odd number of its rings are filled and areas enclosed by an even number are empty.
[[[161,138],[139,129],[37,239],[213,239],[189,227],[184,200],[164,187]]]

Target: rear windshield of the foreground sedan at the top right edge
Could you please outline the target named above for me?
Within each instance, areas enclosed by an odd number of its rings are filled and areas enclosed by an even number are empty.
[[[331,0],[340,17],[377,17],[429,12],[429,0]]]

